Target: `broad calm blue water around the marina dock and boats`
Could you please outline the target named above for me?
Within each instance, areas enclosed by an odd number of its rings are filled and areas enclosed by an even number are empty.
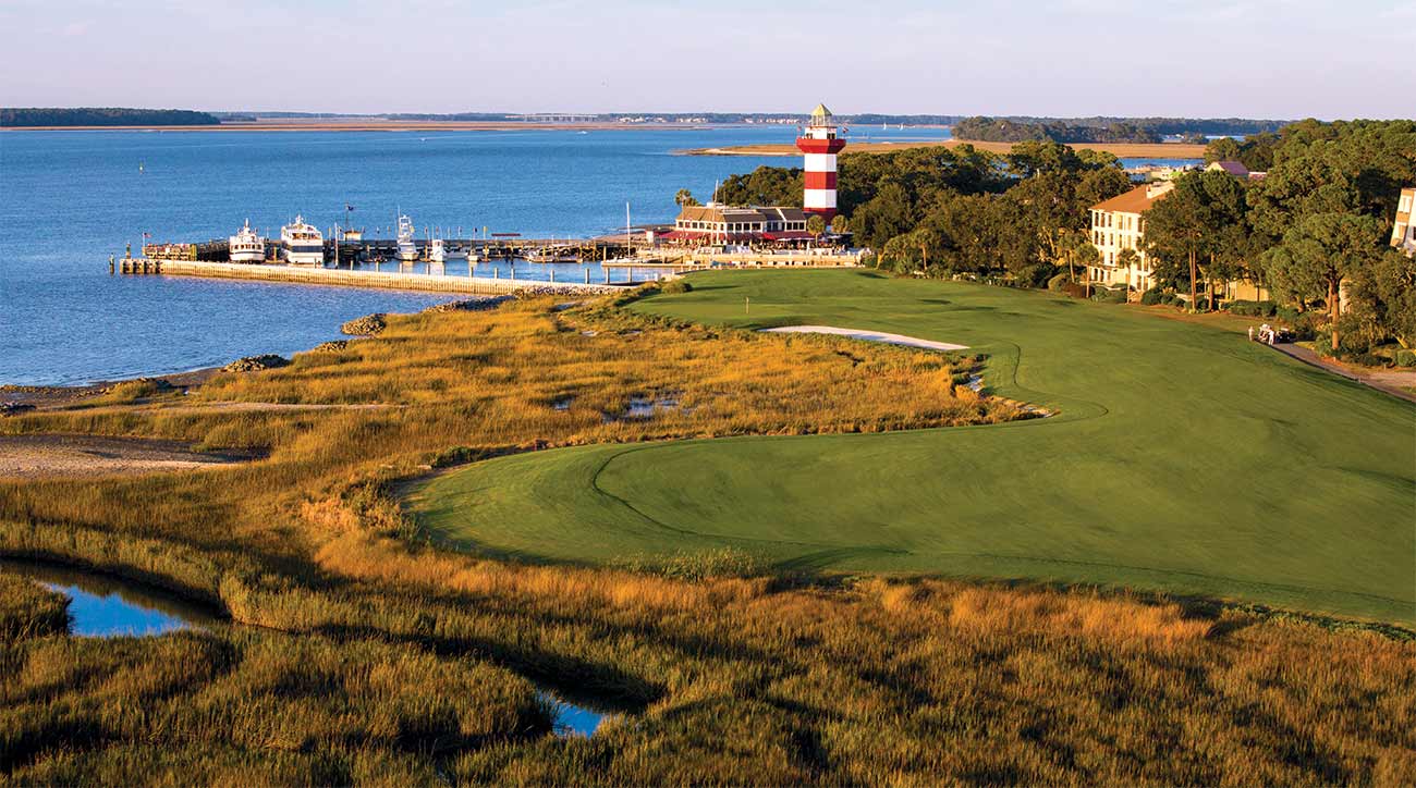
[[[871,139],[932,132],[869,130]],[[943,136],[943,130],[937,130]],[[592,132],[18,132],[0,134],[0,383],[82,383],[289,355],[371,311],[447,296],[198,279],[109,277],[142,233],[266,235],[295,214],[354,224],[583,236],[677,212],[680,188],[784,158],[671,156],[790,141],[793,127]],[[142,163],[143,171],[139,171]],[[462,265],[463,270],[466,263]],[[457,263],[449,263],[453,273]],[[579,279],[578,267],[559,277]],[[545,276],[518,266],[518,277]]]

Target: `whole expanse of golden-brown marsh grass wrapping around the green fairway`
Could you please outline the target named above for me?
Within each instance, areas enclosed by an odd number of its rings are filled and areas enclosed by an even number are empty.
[[[1086,590],[803,583],[738,553],[493,560],[423,543],[389,497],[435,461],[549,446],[1018,416],[960,390],[971,359],[874,351],[518,301],[391,315],[377,338],[219,375],[185,398],[210,412],[6,420],[269,454],[0,482],[0,555],[139,577],[249,625],[6,644],[3,770],[47,784],[1416,781],[1412,642]],[[668,392],[691,410],[603,419]],[[545,736],[528,678],[624,713],[589,740]]]

